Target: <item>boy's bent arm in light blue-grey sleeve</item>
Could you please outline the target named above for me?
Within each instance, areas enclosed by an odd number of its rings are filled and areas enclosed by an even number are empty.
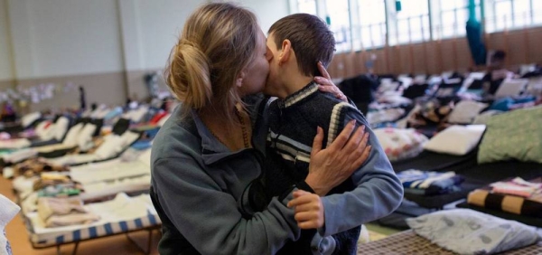
[[[348,121],[356,119],[359,125],[365,125],[372,148],[365,164],[351,176],[356,186],[354,190],[322,197],[325,217],[325,225],[319,229],[322,236],[347,231],[384,217],[396,210],[403,199],[403,186],[367,120],[358,110],[348,105],[342,107],[341,111],[345,118],[337,132],[340,132]]]

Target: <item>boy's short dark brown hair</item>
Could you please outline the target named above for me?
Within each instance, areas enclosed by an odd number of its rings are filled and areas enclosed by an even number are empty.
[[[292,42],[299,69],[307,76],[320,75],[316,63],[330,64],[335,52],[335,38],[322,19],[311,14],[291,14],[269,28],[275,36],[277,49],[286,39]]]

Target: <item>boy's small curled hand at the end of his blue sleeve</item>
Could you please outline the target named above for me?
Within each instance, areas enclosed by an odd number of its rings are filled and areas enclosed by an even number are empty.
[[[325,222],[322,200],[317,194],[296,190],[288,207],[294,207],[295,221],[302,230],[321,228]]]

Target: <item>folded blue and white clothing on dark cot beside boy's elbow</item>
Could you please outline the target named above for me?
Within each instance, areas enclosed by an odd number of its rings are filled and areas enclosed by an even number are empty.
[[[437,173],[420,170],[406,170],[397,174],[397,177],[409,194],[449,194],[461,190],[459,184],[464,181],[463,176],[454,172]]]

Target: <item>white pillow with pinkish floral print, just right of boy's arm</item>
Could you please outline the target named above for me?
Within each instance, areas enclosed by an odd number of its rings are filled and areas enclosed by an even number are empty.
[[[375,129],[373,132],[389,161],[415,157],[424,150],[423,145],[427,142],[427,137],[417,133],[413,128],[386,127]]]

